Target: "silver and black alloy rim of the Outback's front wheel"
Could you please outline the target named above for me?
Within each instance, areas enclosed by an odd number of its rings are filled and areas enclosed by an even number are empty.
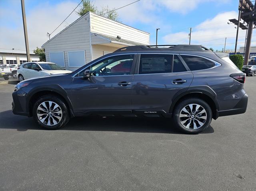
[[[38,119],[48,126],[58,124],[62,119],[62,110],[58,104],[52,101],[42,102],[36,110]]]

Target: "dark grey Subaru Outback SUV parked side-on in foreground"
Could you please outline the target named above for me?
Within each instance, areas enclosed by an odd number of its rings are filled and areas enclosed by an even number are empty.
[[[212,118],[246,112],[244,82],[227,53],[200,45],[129,46],[70,74],[18,83],[12,111],[46,129],[75,116],[163,116],[194,134]]]

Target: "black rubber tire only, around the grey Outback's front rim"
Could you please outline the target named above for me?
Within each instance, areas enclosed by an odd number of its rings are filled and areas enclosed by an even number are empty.
[[[53,123],[53,120],[51,120],[51,122],[52,122],[51,125],[47,125],[46,123],[41,122],[39,117],[38,117],[38,114],[37,114],[38,113],[38,106],[40,106],[40,104],[42,104],[43,102],[49,102],[49,101],[58,104],[58,106],[60,107],[61,112],[62,112],[61,119],[55,125]],[[49,113],[46,114],[46,115],[49,116]],[[51,116],[54,116],[54,114],[52,113]],[[45,129],[48,129],[48,130],[55,130],[55,129],[59,129],[59,128],[65,126],[68,123],[68,121],[70,120],[70,114],[69,114],[69,111],[68,111],[68,108],[67,108],[65,102],[61,98],[59,98],[58,96],[55,96],[55,95],[45,95],[45,96],[40,97],[35,102],[35,104],[33,106],[33,118],[42,128],[45,128]],[[48,120],[49,119],[50,119],[50,116],[49,116]]]

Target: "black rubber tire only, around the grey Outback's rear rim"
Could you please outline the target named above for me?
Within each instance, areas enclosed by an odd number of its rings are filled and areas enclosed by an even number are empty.
[[[202,106],[202,108],[205,109],[205,113],[206,113],[206,120],[203,120],[203,125],[200,127],[200,128],[195,128],[195,129],[190,129],[190,126],[188,128],[184,127],[181,123],[181,120],[180,120],[180,113],[182,112],[182,109],[186,106],[188,106],[189,104],[198,104],[200,106]],[[201,107],[199,108],[199,110],[202,110]],[[195,111],[195,110],[194,110]],[[199,112],[200,113],[200,112]],[[182,113],[181,113],[182,114]],[[188,133],[188,134],[197,134],[199,132],[202,132],[203,130],[205,130],[209,125],[210,123],[212,122],[212,110],[209,106],[209,104],[207,102],[205,102],[204,100],[202,99],[199,99],[199,98],[187,98],[185,100],[182,100],[175,108],[174,108],[174,112],[173,112],[173,120],[174,120],[174,123],[175,123],[175,126],[181,130],[182,132],[185,132],[185,133]],[[185,117],[184,120],[186,121],[187,118],[190,118],[190,120],[188,119],[188,122],[187,124],[189,124],[189,122],[192,122],[192,120],[194,121],[197,120],[198,118],[197,117],[194,117],[193,115],[193,119],[192,119],[192,115],[190,117]],[[197,118],[197,119],[196,119]],[[183,118],[182,118],[183,120]],[[202,120],[202,119],[200,119]],[[197,120],[198,121],[198,120]],[[196,125],[198,124],[198,122],[196,122]],[[194,125],[194,123],[193,123]],[[198,124],[198,126],[200,126]]]

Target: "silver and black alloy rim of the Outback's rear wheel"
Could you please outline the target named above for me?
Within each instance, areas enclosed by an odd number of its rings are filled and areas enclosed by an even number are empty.
[[[180,111],[179,119],[184,128],[198,129],[206,122],[206,110],[199,104],[188,104]]]

